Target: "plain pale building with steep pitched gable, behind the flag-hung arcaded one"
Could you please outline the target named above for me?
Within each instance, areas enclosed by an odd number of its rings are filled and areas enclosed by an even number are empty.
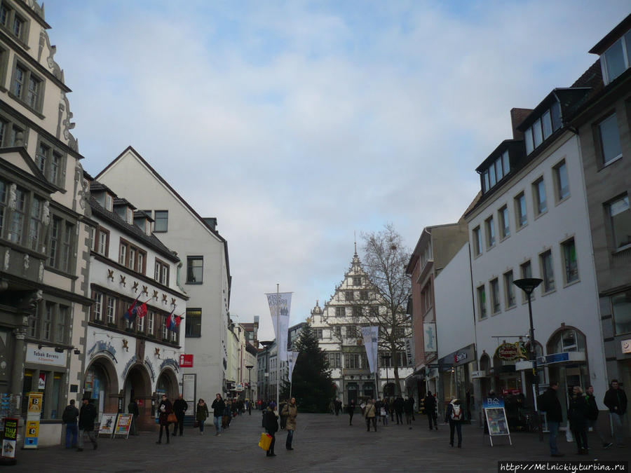
[[[184,265],[174,275],[179,290],[190,298],[184,322],[186,355],[193,355],[193,366],[184,368],[184,398],[195,404],[200,397],[226,395],[231,276],[228,245],[217,232],[216,219],[201,217],[132,147],[97,179],[114,191],[124,191],[151,215],[154,233]]]

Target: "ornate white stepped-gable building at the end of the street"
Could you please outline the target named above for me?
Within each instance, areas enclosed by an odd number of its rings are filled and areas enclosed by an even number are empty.
[[[393,354],[385,348],[379,348],[378,366],[375,373],[369,369],[366,348],[363,345],[361,327],[371,325],[374,311],[385,313],[386,306],[381,301],[365,270],[357,252],[353,254],[351,267],[344,274],[344,279],[335,288],[331,299],[320,308],[318,302],[311,310],[309,323],[318,337],[320,348],[326,353],[331,376],[337,387],[337,399],[348,404],[351,399],[392,397],[395,392],[393,366],[396,363],[401,381],[412,374],[405,350]],[[401,345],[407,336],[412,336],[412,324],[400,329]],[[384,329],[380,328],[380,341]],[[403,388],[403,386],[402,386]]]

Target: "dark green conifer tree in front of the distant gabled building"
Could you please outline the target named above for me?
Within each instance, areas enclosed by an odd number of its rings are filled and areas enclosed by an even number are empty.
[[[326,412],[334,397],[331,371],[308,324],[300,333],[296,349],[299,355],[292,376],[292,396],[303,412]],[[283,397],[289,397],[289,392],[289,383],[283,383]]]

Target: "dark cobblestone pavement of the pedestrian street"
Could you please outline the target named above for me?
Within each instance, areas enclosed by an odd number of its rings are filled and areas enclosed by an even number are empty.
[[[515,433],[513,445],[498,439],[489,446],[480,427],[463,426],[463,448],[449,446],[449,427],[430,432],[425,416],[416,416],[412,430],[407,425],[377,425],[367,432],[360,415],[352,426],[348,416],[299,413],[294,450],[285,449],[285,431],[276,438],[274,458],[266,458],[258,446],[262,432],[261,413],[240,416],[220,437],[212,425],[201,436],[186,427],[184,437],[171,437],[169,445],[156,445],[154,432],[129,439],[100,439],[93,451],[77,452],[59,446],[37,451],[18,451],[18,465],[6,472],[496,472],[498,460],[556,460],[548,455],[547,437]],[[592,437],[590,437],[590,441]],[[163,439],[164,441],[164,439]],[[559,437],[562,460],[625,460],[631,448],[604,450],[594,442],[591,455],[576,455],[574,444]]]

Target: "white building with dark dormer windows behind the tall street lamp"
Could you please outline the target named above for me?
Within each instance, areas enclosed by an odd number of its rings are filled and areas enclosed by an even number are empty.
[[[574,385],[606,389],[583,165],[566,125],[588,90],[555,89],[534,110],[513,109],[514,139],[477,168],[482,196],[465,218],[483,394],[521,392],[532,405],[531,363],[508,345],[529,350],[527,298],[513,285],[524,277],[543,280],[532,294],[541,386],[558,381],[564,395]]]

